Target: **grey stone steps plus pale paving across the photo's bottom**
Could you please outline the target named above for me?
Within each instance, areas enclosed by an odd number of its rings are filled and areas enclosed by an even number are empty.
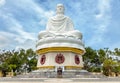
[[[0,83],[120,83],[120,77],[106,77],[90,72],[64,72],[62,78],[57,78],[55,72],[32,72],[15,77],[1,77]]]

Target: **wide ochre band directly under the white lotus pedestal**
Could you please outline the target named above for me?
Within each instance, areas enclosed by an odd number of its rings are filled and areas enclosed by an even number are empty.
[[[72,48],[72,47],[50,47],[50,48],[43,48],[36,51],[37,54],[44,54],[48,52],[74,52],[80,55],[84,54],[84,50]]]

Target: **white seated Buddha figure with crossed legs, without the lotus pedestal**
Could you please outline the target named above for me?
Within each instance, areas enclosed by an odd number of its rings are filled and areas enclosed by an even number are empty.
[[[48,20],[46,31],[39,33],[39,39],[57,35],[82,39],[82,34],[78,30],[74,30],[72,20],[64,15],[63,4],[57,5],[56,15]]]

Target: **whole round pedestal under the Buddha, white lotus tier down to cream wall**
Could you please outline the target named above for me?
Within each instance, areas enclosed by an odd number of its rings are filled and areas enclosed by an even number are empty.
[[[45,37],[37,42],[38,68],[56,70],[80,69],[83,67],[82,55],[85,53],[81,39],[64,35]]]

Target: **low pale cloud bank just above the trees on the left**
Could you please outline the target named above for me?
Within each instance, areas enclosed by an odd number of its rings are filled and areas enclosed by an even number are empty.
[[[29,39],[15,33],[0,31],[0,48],[2,49],[14,49],[16,47],[21,47],[25,49],[35,48],[35,41],[35,38]]]

